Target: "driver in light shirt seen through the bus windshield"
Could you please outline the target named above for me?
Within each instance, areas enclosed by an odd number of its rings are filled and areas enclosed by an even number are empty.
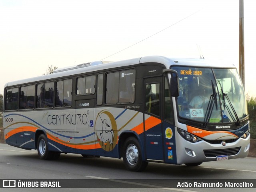
[[[206,97],[206,90],[200,89],[195,91],[197,94],[192,98],[189,103],[190,108],[203,108],[204,104],[209,102],[208,98]]]

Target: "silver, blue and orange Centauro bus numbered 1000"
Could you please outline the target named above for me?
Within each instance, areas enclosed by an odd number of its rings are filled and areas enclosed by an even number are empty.
[[[3,110],[6,143],[42,160],[105,156],[142,171],[245,158],[250,147],[244,88],[222,60],[144,56],[57,69],[7,83]]]

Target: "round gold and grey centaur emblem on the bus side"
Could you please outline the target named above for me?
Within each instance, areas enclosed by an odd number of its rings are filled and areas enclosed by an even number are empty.
[[[117,142],[117,126],[114,116],[107,110],[102,110],[96,117],[94,128],[101,148],[105,151],[112,151]]]

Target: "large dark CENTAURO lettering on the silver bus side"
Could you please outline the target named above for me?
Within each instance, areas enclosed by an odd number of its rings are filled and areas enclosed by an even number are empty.
[[[51,125],[75,125],[75,124],[87,124],[88,118],[86,114],[62,114],[62,115],[48,115],[48,124]]]

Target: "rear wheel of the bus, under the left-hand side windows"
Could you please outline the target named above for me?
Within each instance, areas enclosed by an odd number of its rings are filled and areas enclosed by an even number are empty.
[[[55,160],[60,157],[60,152],[48,150],[48,141],[44,134],[41,134],[37,140],[37,153],[42,160]]]

